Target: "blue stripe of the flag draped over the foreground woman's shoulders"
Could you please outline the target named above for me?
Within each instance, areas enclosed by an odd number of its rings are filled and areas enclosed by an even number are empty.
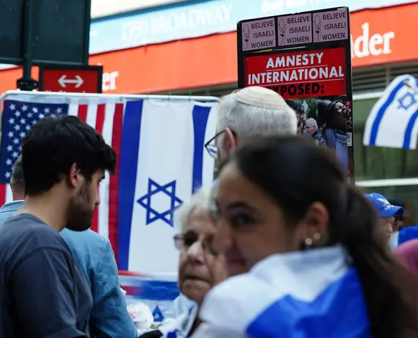
[[[247,334],[253,338],[370,338],[368,317],[362,286],[351,268],[312,302],[291,295],[280,298],[247,327]]]

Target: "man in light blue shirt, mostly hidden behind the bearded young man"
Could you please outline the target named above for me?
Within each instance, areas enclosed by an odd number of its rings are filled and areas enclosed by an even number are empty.
[[[0,229],[24,203],[22,155],[13,166],[10,188],[13,201],[0,208]],[[93,307],[88,319],[90,337],[137,338],[137,328],[127,312],[125,296],[119,284],[118,266],[109,240],[92,230],[72,231],[65,228],[59,234],[79,264],[93,295]]]

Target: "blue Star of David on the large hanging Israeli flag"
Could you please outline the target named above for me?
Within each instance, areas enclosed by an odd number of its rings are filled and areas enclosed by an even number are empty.
[[[153,208],[153,196],[157,194],[165,195],[167,197],[166,201],[169,202],[169,205],[165,207],[166,210],[163,210],[161,213],[156,210],[158,206]],[[166,185],[159,185],[150,178],[148,178],[148,192],[138,199],[137,202],[146,209],[146,225],[156,220],[162,220],[169,226],[173,226],[174,211],[183,203],[181,199],[176,197],[176,180]]]

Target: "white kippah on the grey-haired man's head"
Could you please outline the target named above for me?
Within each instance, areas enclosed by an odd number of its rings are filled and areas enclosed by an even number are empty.
[[[281,95],[264,87],[245,87],[233,92],[232,95],[235,101],[245,105],[270,109],[288,109],[288,105]]]

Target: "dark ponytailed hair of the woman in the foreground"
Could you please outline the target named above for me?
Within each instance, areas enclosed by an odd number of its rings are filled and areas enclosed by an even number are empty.
[[[334,157],[307,139],[288,136],[252,140],[238,148],[231,161],[277,202],[288,226],[302,220],[312,203],[323,203],[330,217],[327,245],[339,243],[351,256],[372,337],[418,337],[412,275],[379,239],[375,211],[362,192],[346,182]]]

